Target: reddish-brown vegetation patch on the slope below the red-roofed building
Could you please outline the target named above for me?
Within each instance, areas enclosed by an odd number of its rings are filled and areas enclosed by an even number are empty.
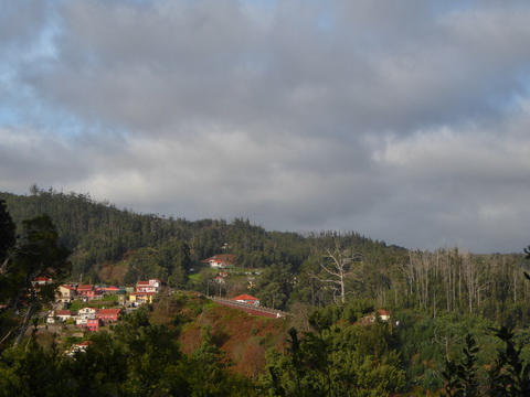
[[[266,319],[215,304],[205,309],[184,326],[180,337],[182,351],[191,353],[201,343],[201,331],[211,326],[213,341],[225,352],[231,369],[257,377],[265,367],[265,352],[279,348],[285,341],[285,320]]]

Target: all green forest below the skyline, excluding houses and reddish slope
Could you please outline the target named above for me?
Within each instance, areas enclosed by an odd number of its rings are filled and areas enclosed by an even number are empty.
[[[18,395],[29,387],[29,367],[42,367],[52,378],[70,374],[70,380],[62,380],[64,387],[80,393],[84,385],[74,382],[73,374],[84,360],[99,368],[86,375],[99,376],[99,384],[89,379],[93,395],[523,396],[529,390],[530,264],[523,254],[475,255],[454,247],[409,250],[356,232],[280,233],[244,218],[188,221],[138,214],[96,202],[89,194],[38,186],[29,195],[0,193],[0,201],[2,269],[9,260],[25,269],[18,278],[0,273],[0,303],[6,307],[14,304],[17,286],[35,271],[51,271],[63,282],[120,285],[157,277],[179,290],[209,294],[212,273],[197,269],[203,269],[201,261],[210,256],[232,254],[237,271],[258,275],[251,292],[263,305],[293,313],[283,331],[286,345],[269,346],[258,376],[248,378],[230,371],[219,350],[223,343],[212,332],[204,332],[195,352],[182,353],[173,337],[182,332],[178,314],[169,329],[151,324],[149,312],[137,314],[115,333],[97,336],[102,350],[72,362],[54,345],[42,347],[32,340],[24,351],[8,348],[20,341],[10,334],[15,324],[4,310],[0,372],[17,385],[4,378],[0,386],[18,387]],[[50,259],[34,268],[35,257],[22,254],[43,236],[47,248],[42,253]],[[231,297],[250,288],[235,279],[219,294]],[[35,296],[26,305],[36,310],[44,298]],[[378,309],[391,312],[393,320],[362,325]],[[153,355],[163,372],[141,367]],[[202,379],[205,374],[200,371],[183,371],[208,363],[209,379]],[[112,386],[112,376],[123,379],[123,386]],[[215,376],[225,379],[224,388]]]

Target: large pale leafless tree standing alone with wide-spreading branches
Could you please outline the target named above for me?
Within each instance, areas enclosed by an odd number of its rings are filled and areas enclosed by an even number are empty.
[[[347,278],[352,276],[353,264],[361,259],[361,254],[353,248],[341,248],[337,242],[333,249],[325,248],[322,258],[319,275],[315,275],[312,271],[310,275],[321,282],[331,283],[335,302],[343,304],[346,303]]]

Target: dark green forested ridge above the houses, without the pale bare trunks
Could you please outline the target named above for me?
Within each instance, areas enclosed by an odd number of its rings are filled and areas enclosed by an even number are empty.
[[[192,264],[215,254],[234,254],[241,268],[279,268],[271,277],[299,272],[308,261],[319,258],[322,249],[337,238],[341,244],[362,249],[364,255],[379,257],[381,262],[393,257],[386,253],[404,251],[386,247],[357,233],[266,232],[248,219],[166,218],[159,214],[137,214],[118,210],[108,202],[96,202],[89,194],[62,193],[31,187],[30,195],[0,193],[7,208],[19,226],[23,219],[47,214],[60,235],[60,243],[72,250],[73,276],[100,280],[104,267],[124,268],[125,282],[138,278],[173,278],[183,286]],[[385,259],[386,258],[386,259]],[[112,271],[110,271],[112,273]],[[284,286],[285,287],[285,286]],[[285,293],[284,293],[285,294]],[[321,302],[320,298],[312,298]],[[283,299],[284,303],[286,299]]]

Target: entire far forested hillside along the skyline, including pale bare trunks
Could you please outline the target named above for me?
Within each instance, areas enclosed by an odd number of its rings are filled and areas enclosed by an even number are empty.
[[[433,315],[477,313],[511,323],[528,315],[523,255],[473,255],[447,247],[410,251],[354,232],[301,235],[268,232],[242,218],[166,218],[119,210],[89,194],[36,186],[29,195],[0,193],[0,198],[19,227],[23,219],[47,214],[60,243],[72,251],[73,276],[94,282],[112,281],[100,279],[102,269],[119,267],[126,282],[161,277],[183,287],[193,264],[234,254],[237,267],[263,269],[255,288],[265,302],[274,300],[282,309],[295,302],[325,305],[340,298],[343,288],[348,298]],[[343,282],[333,260],[346,261]]]

